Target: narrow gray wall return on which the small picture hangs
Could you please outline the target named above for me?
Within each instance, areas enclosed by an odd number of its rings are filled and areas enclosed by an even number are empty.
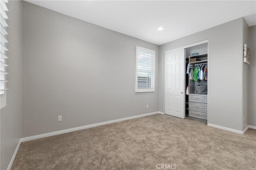
[[[242,48],[244,44],[249,45],[249,26],[246,23],[246,21],[243,18],[243,43]],[[241,56],[244,56],[244,51],[242,50]],[[243,129],[245,129],[248,126],[248,72],[249,72],[249,65],[244,63],[243,57],[242,57],[242,67],[243,67],[243,77],[242,77],[242,86],[243,86],[243,115],[242,115],[242,121],[243,121]]]

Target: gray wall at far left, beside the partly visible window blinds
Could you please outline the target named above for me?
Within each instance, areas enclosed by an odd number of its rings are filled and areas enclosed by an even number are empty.
[[[7,169],[21,137],[22,2],[10,0],[7,7],[7,63],[10,66],[7,67],[7,106],[1,109],[1,170]]]

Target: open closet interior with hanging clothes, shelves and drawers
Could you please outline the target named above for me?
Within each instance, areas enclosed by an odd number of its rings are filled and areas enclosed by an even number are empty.
[[[186,118],[207,123],[208,42],[185,51]]]

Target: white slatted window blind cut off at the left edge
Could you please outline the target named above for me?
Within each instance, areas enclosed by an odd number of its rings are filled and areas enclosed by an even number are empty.
[[[8,24],[6,23],[6,20],[8,19],[8,16],[6,15],[6,11],[8,11],[6,3],[8,3],[8,0],[0,0],[0,95],[3,95],[5,93],[6,88],[6,67],[8,66],[6,64],[6,59],[8,57],[6,56],[6,51],[8,49],[6,48],[6,43],[8,41],[6,40],[6,35],[8,33],[6,32],[6,27],[8,27]]]

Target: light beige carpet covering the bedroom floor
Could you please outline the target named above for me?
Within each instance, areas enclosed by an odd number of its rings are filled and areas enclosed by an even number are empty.
[[[154,170],[158,164],[177,170],[256,169],[256,130],[240,135],[157,114],[23,142],[12,170]]]

